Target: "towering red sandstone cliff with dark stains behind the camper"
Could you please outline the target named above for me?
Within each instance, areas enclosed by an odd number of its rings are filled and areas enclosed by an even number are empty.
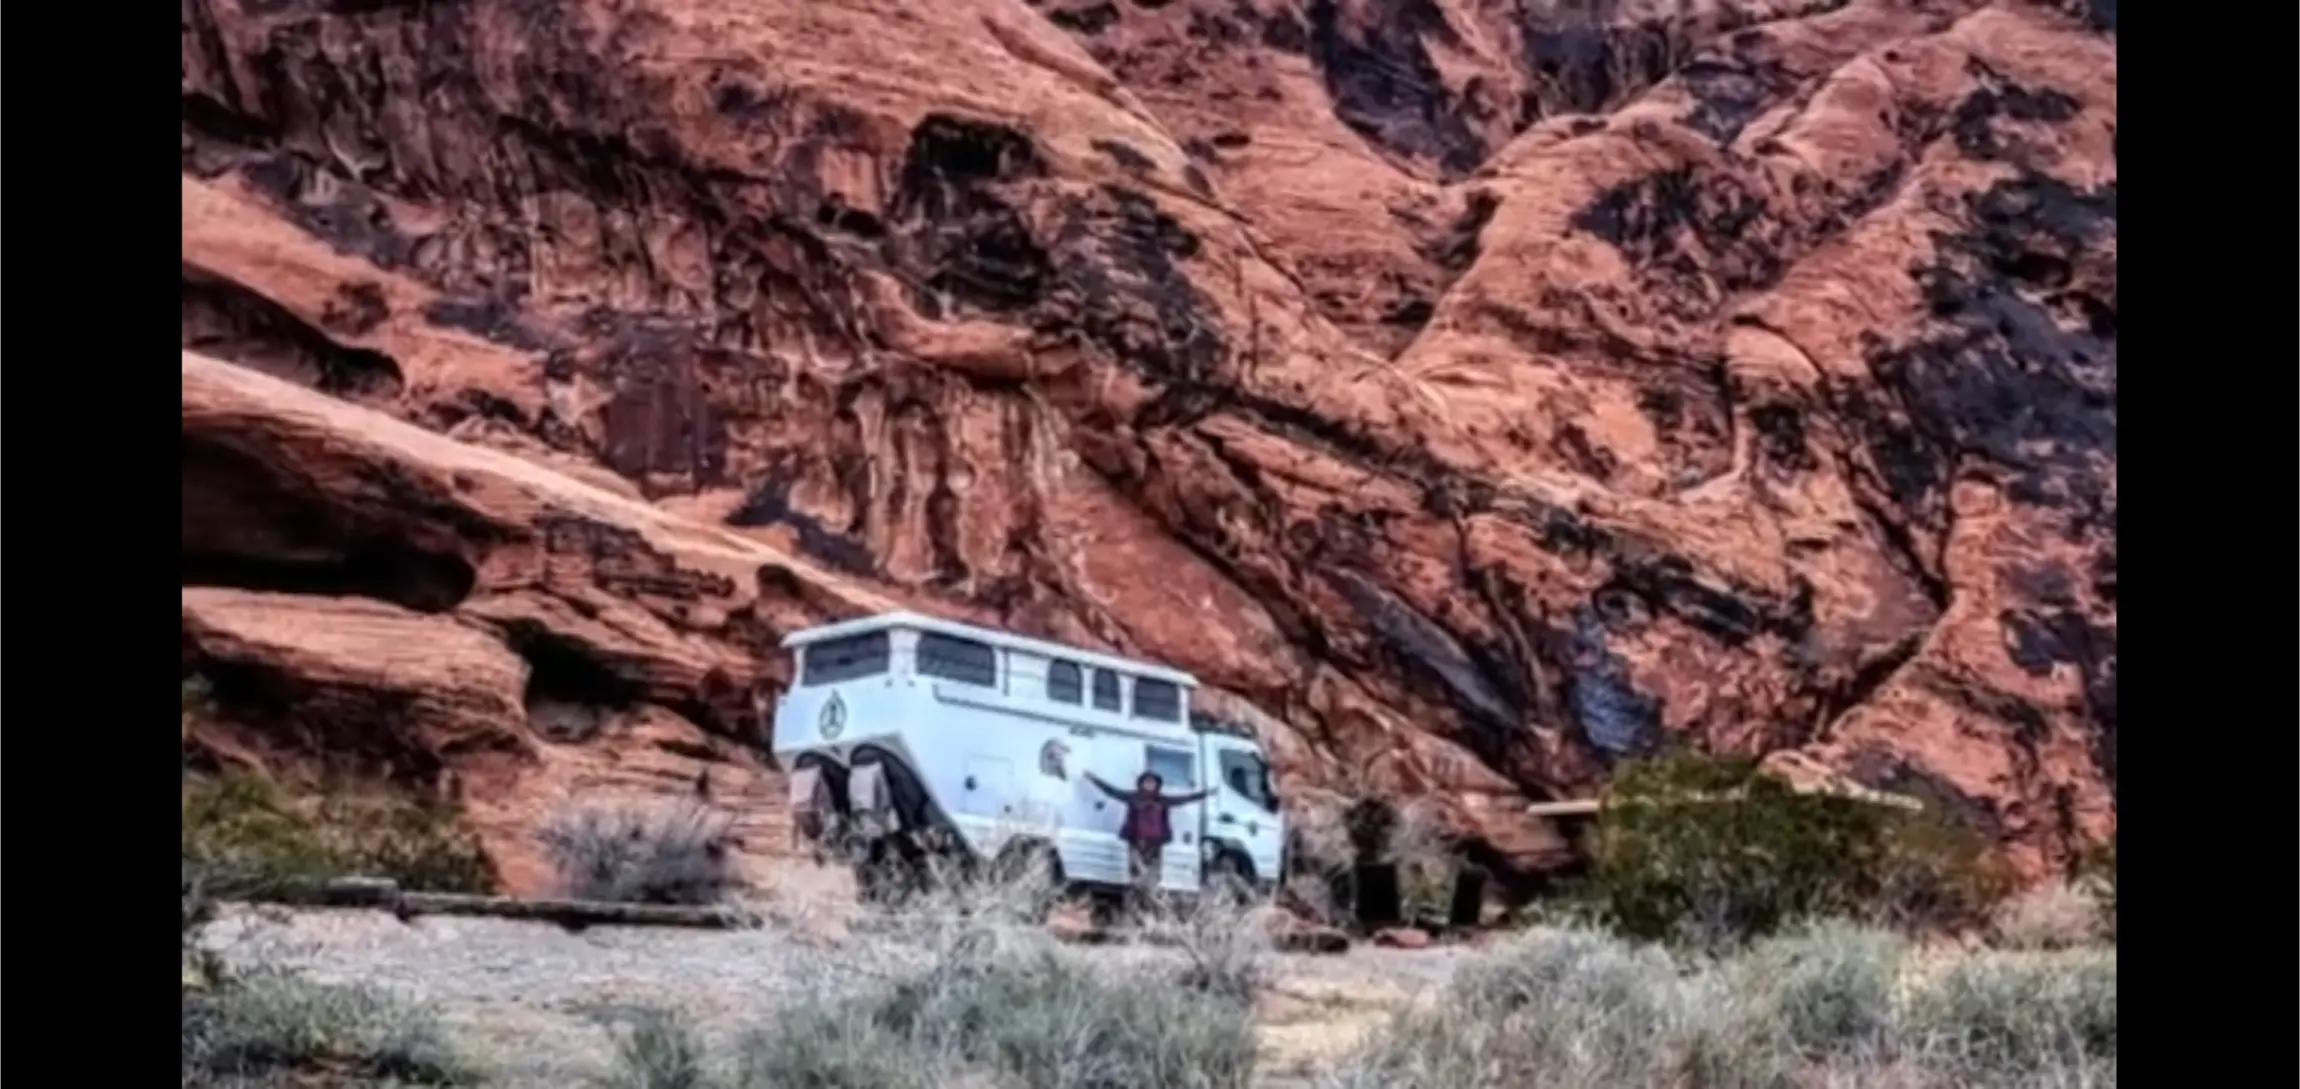
[[[202,744],[515,882],[770,854],[773,640],[890,603],[1525,866],[1665,734],[2114,827],[2109,2],[184,0],[182,163]]]

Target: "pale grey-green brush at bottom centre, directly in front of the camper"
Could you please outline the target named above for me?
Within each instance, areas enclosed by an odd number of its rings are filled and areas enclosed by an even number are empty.
[[[747,1034],[711,1075],[692,1029],[651,1018],[626,1038],[616,1089],[1244,1087],[1254,1071],[1258,946],[1242,914],[1162,914],[1148,937],[1182,965],[1122,965],[1021,926],[1023,882],[936,882],[876,919],[874,942]],[[1203,912],[1237,912],[1208,900]],[[690,1077],[706,1077],[704,1082]],[[720,1077],[720,1080],[708,1080]]]

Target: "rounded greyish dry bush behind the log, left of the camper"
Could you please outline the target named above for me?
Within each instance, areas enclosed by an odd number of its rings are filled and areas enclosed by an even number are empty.
[[[729,820],[695,801],[573,810],[540,838],[577,900],[713,905],[741,886]]]

